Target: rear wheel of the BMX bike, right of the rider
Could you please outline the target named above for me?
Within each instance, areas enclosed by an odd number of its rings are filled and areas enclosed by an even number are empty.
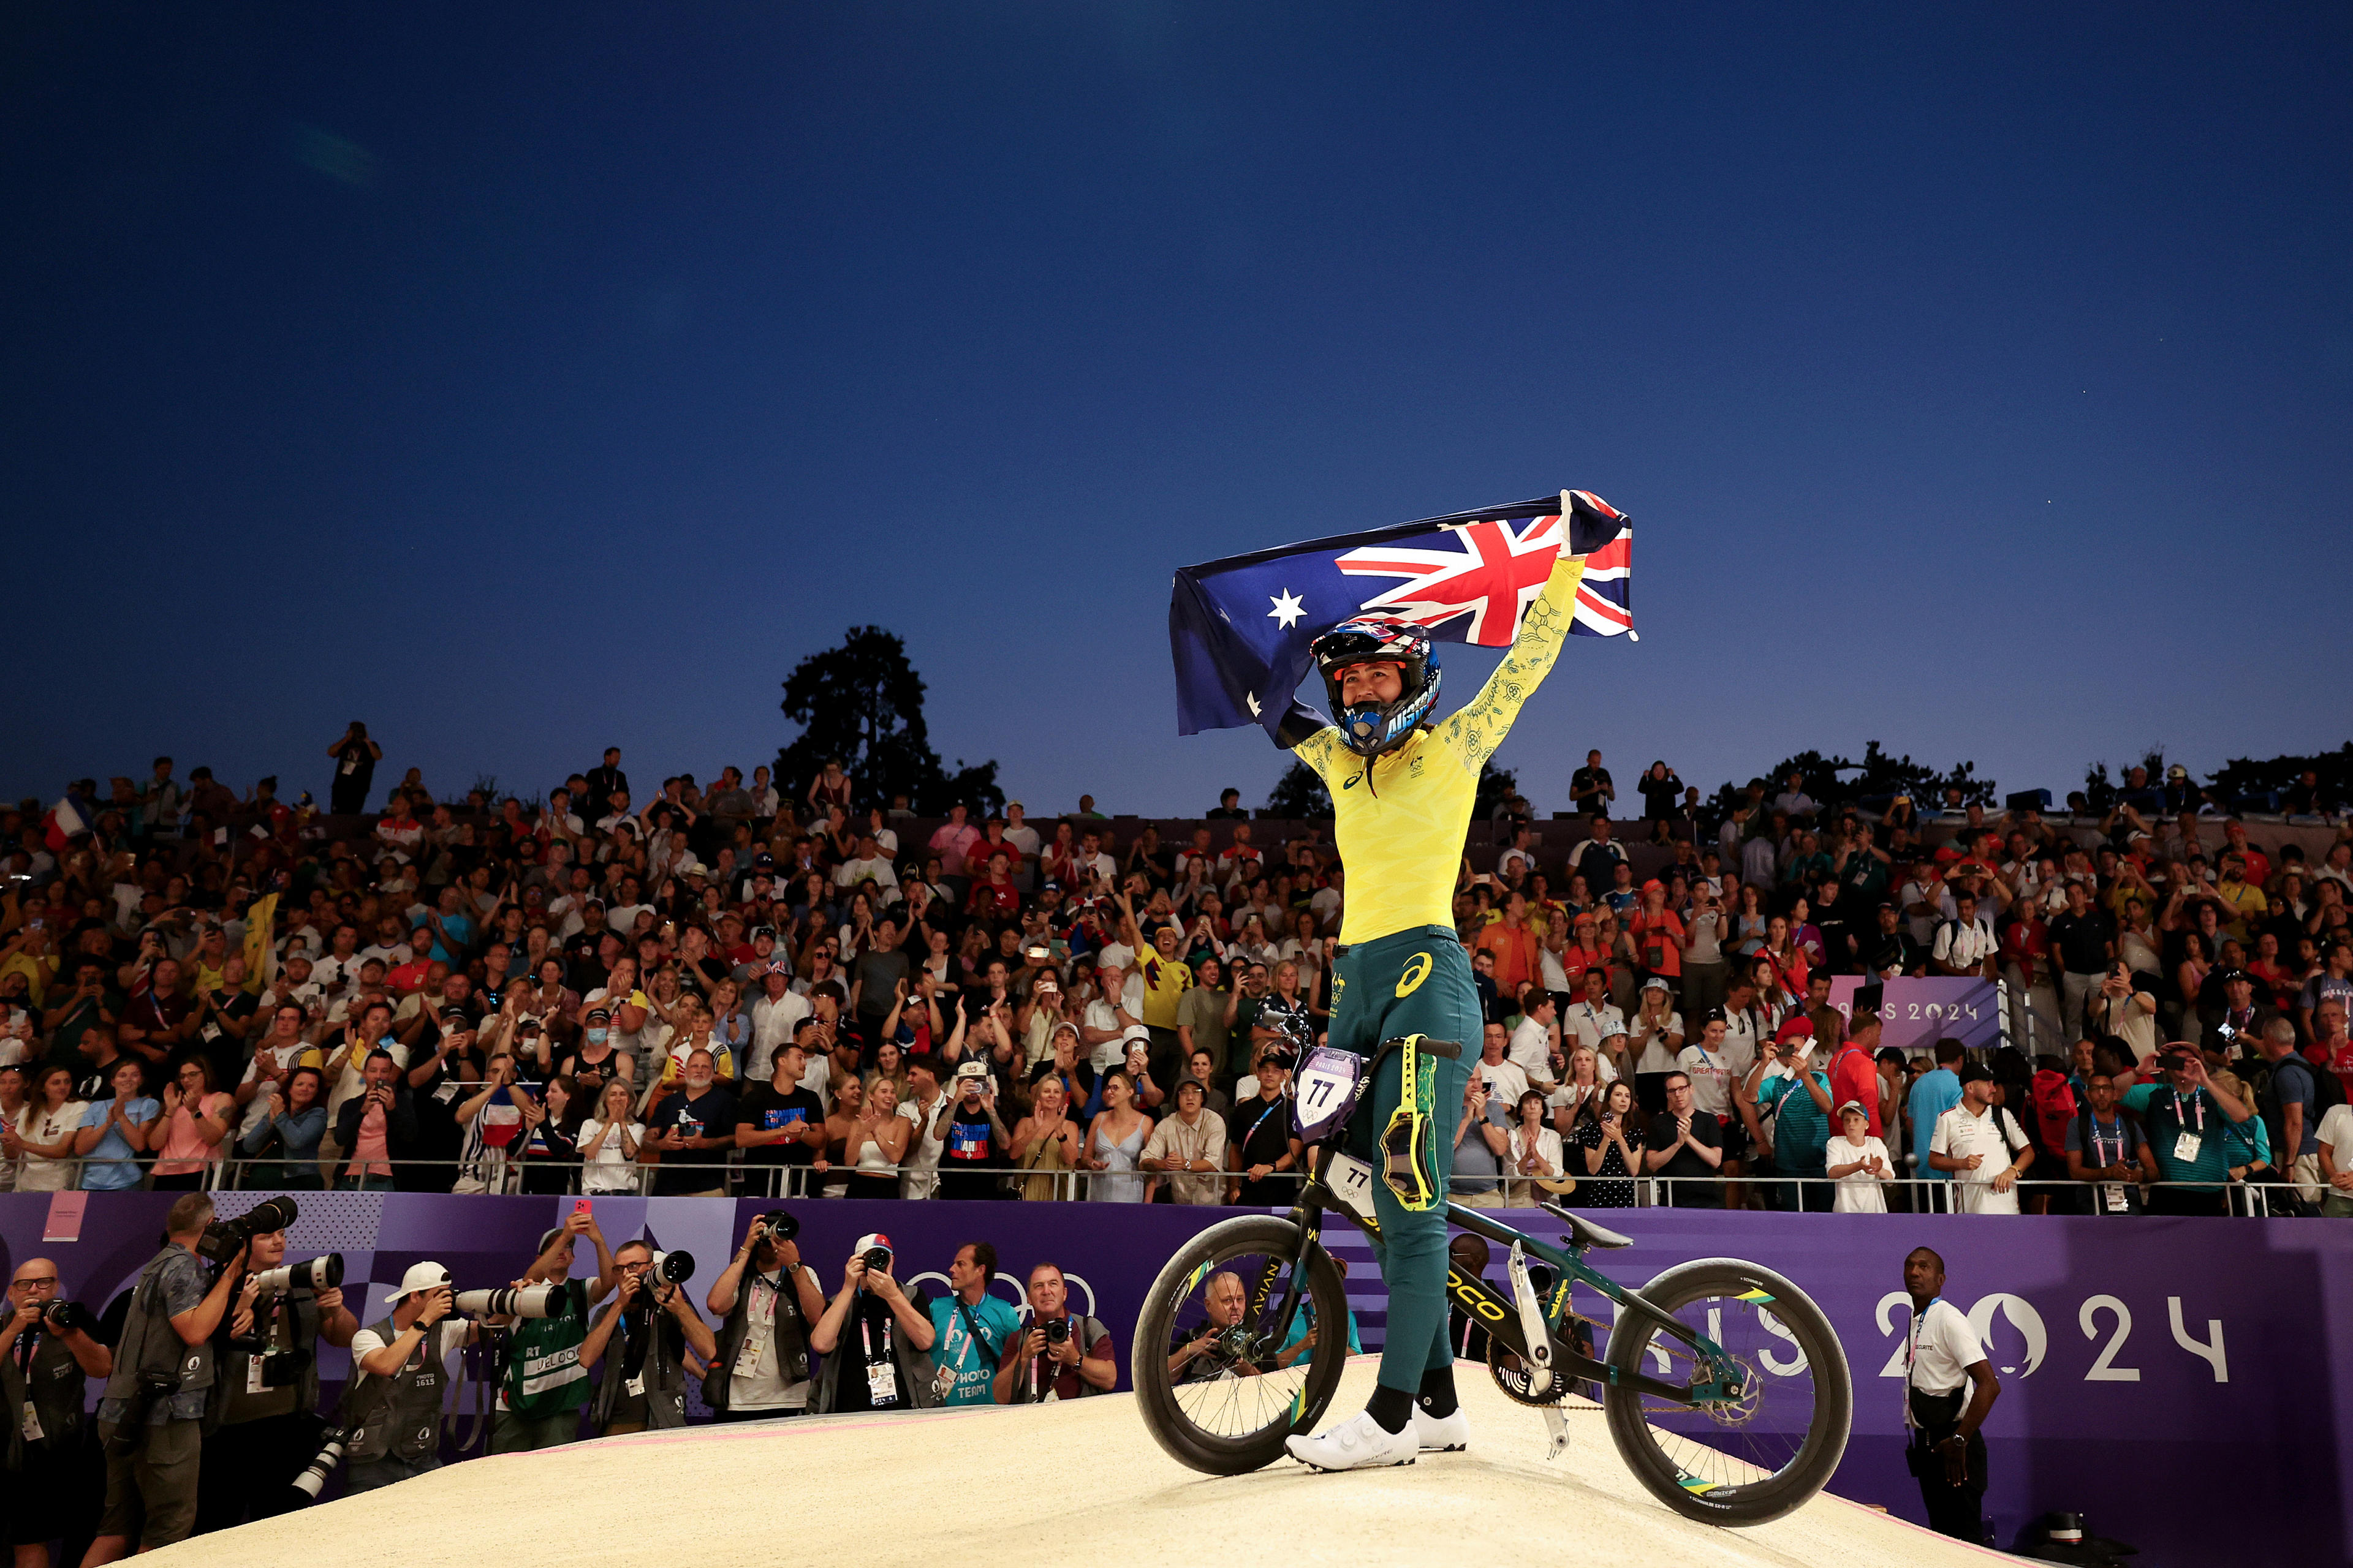
[[[1751,1526],[1819,1493],[1854,1422],[1847,1352],[1821,1307],[1788,1279],[1737,1258],[1678,1265],[1642,1286],[1642,1298],[1741,1368],[1739,1396],[1701,1406],[1605,1389],[1609,1439],[1649,1495],[1687,1519]],[[1624,1305],[1607,1363],[1668,1385],[1711,1375],[1689,1345]]]

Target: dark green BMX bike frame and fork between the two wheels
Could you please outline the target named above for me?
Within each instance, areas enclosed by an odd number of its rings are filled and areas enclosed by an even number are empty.
[[[1266,1316],[1266,1307],[1268,1298],[1273,1295],[1275,1269],[1285,1260],[1271,1258],[1259,1276],[1259,1288],[1252,1293],[1249,1302],[1252,1316],[1261,1326],[1266,1326],[1268,1340],[1275,1345],[1282,1342],[1282,1335],[1292,1324],[1292,1314],[1299,1309],[1301,1272],[1297,1265],[1304,1260],[1308,1246],[1322,1248],[1322,1215],[1339,1213],[1374,1241],[1381,1239],[1381,1225],[1351,1208],[1325,1182],[1325,1173],[1329,1171],[1334,1154],[1337,1150],[1332,1145],[1315,1145],[1313,1178],[1299,1190],[1299,1201],[1292,1206],[1289,1218],[1299,1227],[1301,1255],[1289,1260],[1294,1265],[1289,1274],[1289,1286],[1282,1291],[1282,1302],[1275,1305],[1273,1319]],[[1692,1328],[1675,1321],[1659,1307],[1649,1305],[1640,1291],[1631,1291],[1609,1279],[1607,1274],[1586,1265],[1584,1260],[1586,1248],[1577,1246],[1574,1241],[1562,1239],[1562,1246],[1553,1246],[1539,1237],[1529,1237],[1522,1229],[1494,1220],[1485,1211],[1464,1208],[1461,1204],[1447,1204],[1447,1222],[1459,1225],[1461,1229],[1475,1232],[1480,1237],[1487,1237],[1489,1241],[1499,1241],[1504,1246],[1520,1246],[1525,1248],[1527,1255],[1541,1258],[1544,1262],[1553,1265],[1553,1269],[1558,1269],[1560,1281],[1553,1286],[1551,1298],[1544,1305],[1544,1324],[1553,1333],[1555,1380],[1600,1382],[1607,1387],[1635,1389],[1640,1394],[1649,1394],[1654,1399],[1664,1399],[1668,1403],[1678,1403],[1685,1408],[1697,1408],[1739,1396],[1741,1389],[1739,1368],[1720,1345],[1715,1345],[1701,1333],[1694,1333]],[[1659,1324],[1675,1340],[1689,1345],[1692,1352],[1701,1359],[1701,1363],[1711,1371],[1711,1375],[1701,1382],[1673,1385],[1673,1382],[1659,1382],[1657,1378],[1645,1378],[1642,1373],[1614,1368],[1607,1361],[1595,1361],[1593,1356],[1577,1354],[1558,1335],[1560,1324],[1567,1319],[1569,1312],[1569,1286],[1577,1281],[1584,1281],[1600,1295],[1617,1302],[1619,1316],[1624,1316],[1626,1312],[1638,1312],[1649,1321]],[[1513,1307],[1511,1298],[1489,1286],[1485,1279],[1475,1274],[1464,1274],[1452,1262],[1447,1265],[1447,1295],[1454,1300],[1454,1305],[1468,1312],[1471,1319],[1487,1331],[1487,1338],[1499,1340],[1506,1349],[1527,1361],[1527,1335],[1520,1331],[1520,1312]]]

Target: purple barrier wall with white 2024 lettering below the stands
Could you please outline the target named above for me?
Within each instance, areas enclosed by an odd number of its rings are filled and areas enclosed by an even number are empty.
[[[221,1194],[242,1208],[256,1194]],[[419,1258],[461,1286],[506,1284],[569,1199],[301,1194],[289,1255],[341,1251],[346,1291],[367,1284],[367,1321]],[[169,1194],[92,1194],[78,1241],[42,1241],[49,1199],[0,1197],[0,1265],[45,1253],[68,1293],[101,1307],[153,1255]],[[699,1298],[765,1201],[598,1199],[621,1244],[649,1234],[696,1258]],[[1127,1359],[1141,1293],[1169,1253],[1231,1211],[1094,1204],[793,1204],[802,1251],[826,1288],[852,1241],[892,1237],[901,1274],[946,1288],[962,1241],[988,1239],[1016,1276],[1052,1258],[1078,1307],[1104,1319]],[[1541,1213],[1518,1215],[1555,1234]],[[1635,1246],[1595,1253],[1642,1284],[1689,1258],[1737,1255],[1795,1279],[1831,1314],[1854,1368],[1854,1441],[1835,1490],[1920,1521],[1901,1462],[1899,1265],[1934,1246],[1948,1298],[1988,1340],[2002,1399],[1986,1425],[1988,1512],[2009,1544],[2047,1509],[2073,1509],[2141,1547],[2151,1568],[2353,1561],[2353,1225],[2313,1220],[2021,1220],[1979,1215],[1612,1215]],[[1384,1298],[1355,1232],[1351,1302],[1377,1347]],[[1012,1279],[998,1288],[1019,1298]],[[1581,1309],[1593,1302],[1581,1300]],[[355,1302],[355,1309],[358,1302]],[[344,1375],[327,1349],[322,1375]],[[1532,1420],[1532,1418],[1529,1418]]]

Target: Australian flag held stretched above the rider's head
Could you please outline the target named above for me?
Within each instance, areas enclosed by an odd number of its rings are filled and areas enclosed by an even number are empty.
[[[1562,550],[1586,557],[1569,630],[1633,635],[1631,543],[1624,512],[1565,489],[1184,567],[1169,595],[1176,733],[1240,724],[1275,733],[1306,679],[1308,642],[1341,621],[1391,616],[1438,642],[1511,646]]]

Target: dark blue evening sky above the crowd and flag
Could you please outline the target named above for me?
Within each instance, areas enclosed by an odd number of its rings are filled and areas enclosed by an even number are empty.
[[[9,795],[711,776],[878,621],[1033,811],[1257,802],[1169,569],[1562,484],[1539,806],[2348,733],[2344,7],[322,9],[0,19]]]

